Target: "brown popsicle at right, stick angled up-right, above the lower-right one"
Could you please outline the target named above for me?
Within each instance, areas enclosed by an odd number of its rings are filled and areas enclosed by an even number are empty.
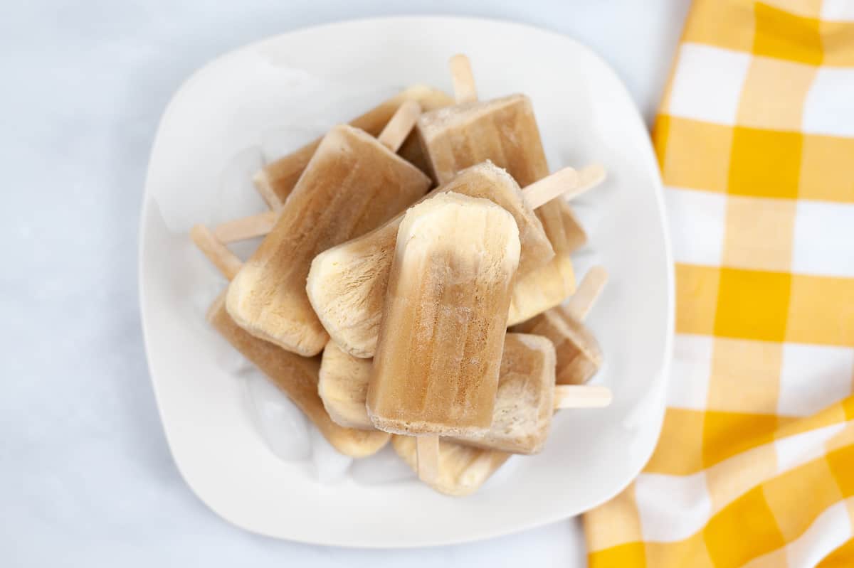
[[[559,306],[512,327],[518,333],[536,333],[552,340],[558,357],[556,380],[559,385],[583,385],[602,366],[599,342],[584,325],[584,318],[608,280],[598,266],[588,270],[578,291]]]

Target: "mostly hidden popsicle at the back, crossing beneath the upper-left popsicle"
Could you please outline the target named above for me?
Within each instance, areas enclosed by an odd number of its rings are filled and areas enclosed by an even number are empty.
[[[453,98],[441,90],[424,85],[414,85],[351,120],[349,125],[365,130],[371,136],[379,136],[392,115],[406,101],[418,102],[424,110],[433,110],[453,104]],[[319,147],[320,140],[319,138],[294,153],[277,159],[255,175],[255,187],[258,188],[261,196],[273,209],[280,208],[288,199],[288,195],[296,185],[302,171],[306,169],[314,151]],[[418,136],[414,132],[407,136],[398,152],[404,159],[412,162],[423,171],[429,171],[429,165],[427,165],[424,154],[421,152]]]

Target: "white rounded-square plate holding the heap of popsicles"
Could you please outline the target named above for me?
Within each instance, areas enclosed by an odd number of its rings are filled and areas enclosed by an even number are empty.
[[[209,221],[226,163],[257,148],[263,132],[305,123],[305,107],[292,99],[299,77],[383,86],[387,93],[418,83],[450,91],[447,60],[454,53],[471,56],[483,99],[519,91],[531,97],[553,170],[599,161],[609,171],[579,212],[596,261],[611,273],[589,324],[607,360],[596,382],[611,386],[614,403],[559,413],[541,455],[512,458],[473,496],[442,496],[416,481],[319,484],[306,467],[267,449],[239,381],[221,364],[228,347],[192,299],[210,289],[213,270],[190,243],[188,223]],[[330,109],[325,119],[348,118],[341,114]],[[488,20],[384,18],[290,32],[219,57],[178,90],[163,115],[139,254],[149,368],[169,446],[196,495],[247,530],[352,547],[498,536],[614,496],[640,472],[658,438],[673,334],[658,167],[623,84],[570,38]],[[585,258],[578,264],[594,256]]]

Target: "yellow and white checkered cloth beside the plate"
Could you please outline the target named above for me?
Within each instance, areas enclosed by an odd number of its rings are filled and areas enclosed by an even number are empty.
[[[695,0],[653,139],[668,409],[590,566],[854,566],[854,0]]]

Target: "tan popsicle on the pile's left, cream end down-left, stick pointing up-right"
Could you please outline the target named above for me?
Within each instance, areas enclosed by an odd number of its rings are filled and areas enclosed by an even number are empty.
[[[418,104],[401,106],[379,138],[352,126],[324,137],[272,231],[231,281],[225,307],[240,327],[302,356],[329,339],[306,294],[319,252],[364,235],[426,193],[430,179],[394,150]]]

